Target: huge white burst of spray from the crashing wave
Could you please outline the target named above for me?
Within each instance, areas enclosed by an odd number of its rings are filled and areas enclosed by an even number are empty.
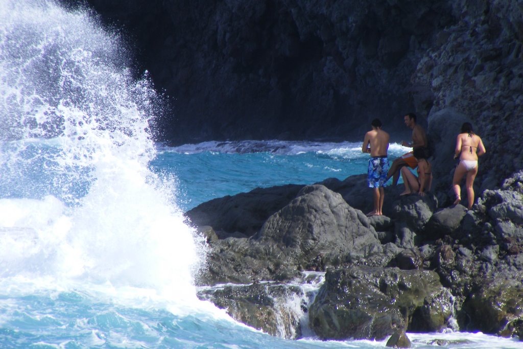
[[[195,300],[203,244],[149,169],[161,100],[120,37],[48,0],[2,1],[0,23],[2,285]]]

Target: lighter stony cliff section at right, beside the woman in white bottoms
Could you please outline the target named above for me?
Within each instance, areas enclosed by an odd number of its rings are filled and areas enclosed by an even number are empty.
[[[523,127],[523,4],[459,0],[453,6],[460,20],[437,34],[412,76],[413,86],[425,91],[414,95],[416,110],[429,115],[429,125],[434,118],[435,127],[456,126],[437,120],[448,108],[456,118],[472,121],[488,152],[476,184],[493,188],[523,168],[523,154],[514,151],[521,140],[511,137]]]

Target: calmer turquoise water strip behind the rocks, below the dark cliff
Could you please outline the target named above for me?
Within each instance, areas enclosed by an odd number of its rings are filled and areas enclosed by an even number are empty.
[[[178,204],[184,210],[217,197],[256,187],[313,184],[367,172],[369,155],[361,142],[241,141],[159,147],[151,162],[156,173],[174,173]],[[391,161],[407,151],[390,147]],[[365,183],[362,183],[365,185]]]

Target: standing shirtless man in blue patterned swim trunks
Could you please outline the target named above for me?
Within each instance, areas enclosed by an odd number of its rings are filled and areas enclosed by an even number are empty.
[[[385,183],[387,171],[389,171],[389,133],[381,129],[380,119],[374,119],[370,123],[372,130],[365,134],[361,151],[370,153],[369,170],[367,183],[369,188],[373,188],[374,210],[367,213],[367,216],[381,216],[383,213],[383,199],[385,198]]]

